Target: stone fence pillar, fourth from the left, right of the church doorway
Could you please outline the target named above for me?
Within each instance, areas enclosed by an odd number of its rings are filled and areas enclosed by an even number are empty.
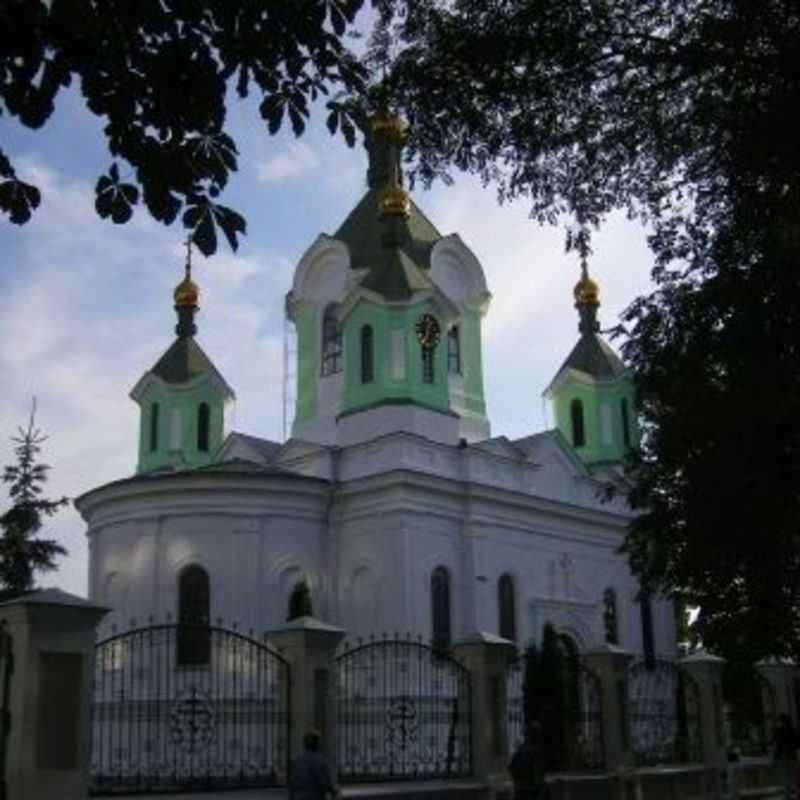
[[[606,770],[633,764],[628,721],[628,664],[633,655],[612,644],[601,644],[583,654],[583,661],[600,679],[603,698],[603,747]]]

